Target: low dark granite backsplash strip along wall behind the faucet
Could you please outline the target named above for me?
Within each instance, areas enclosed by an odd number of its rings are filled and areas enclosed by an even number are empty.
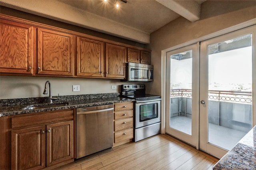
[[[67,96],[53,96],[53,97],[58,98],[57,100],[54,100],[54,102],[60,102],[60,101],[75,101],[75,100],[109,98],[109,97],[116,97],[119,95],[120,95],[120,93],[101,93],[101,94],[67,95]],[[27,104],[38,104],[38,103],[48,103],[48,97],[0,99],[0,106],[27,105]]]

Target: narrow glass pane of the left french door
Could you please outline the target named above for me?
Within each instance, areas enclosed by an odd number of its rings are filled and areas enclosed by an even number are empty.
[[[170,127],[192,134],[192,50],[170,56]]]

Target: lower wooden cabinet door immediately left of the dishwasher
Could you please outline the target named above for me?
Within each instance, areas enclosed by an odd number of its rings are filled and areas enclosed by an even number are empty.
[[[46,165],[51,166],[74,158],[73,121],[46,125],[47,148]]]

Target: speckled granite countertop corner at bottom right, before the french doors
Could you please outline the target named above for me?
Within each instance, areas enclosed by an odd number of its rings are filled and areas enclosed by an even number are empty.
[[[224,155],[213,169],[256,169],[256,126]]]

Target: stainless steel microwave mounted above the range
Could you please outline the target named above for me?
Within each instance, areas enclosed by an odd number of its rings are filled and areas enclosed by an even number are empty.
[[[154,67],[153,65],[127,63],[127,79],[126,81],[153,81]]]

